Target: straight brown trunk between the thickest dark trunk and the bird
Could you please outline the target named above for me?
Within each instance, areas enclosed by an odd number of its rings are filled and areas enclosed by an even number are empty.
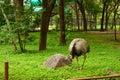
[[[59,0],[60,15],[60,45],[65,45],[64,0]]]

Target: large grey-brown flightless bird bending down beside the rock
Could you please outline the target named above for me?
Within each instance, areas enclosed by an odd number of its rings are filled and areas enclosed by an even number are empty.
[[[69,45],[69,53],[71,56],[71,59],[74,59],[76,57],[77,60],[77,65],[78,64],[78,57],[83,55],[84,56],[84,61],[82,64],[82,68],[84,66],[85,60],[86,60],[86,53],[90,51],[90,46],[88,45],[88,43],[86,42],[85,39],[83,38],[76,38],[73,39],[72,42]]]

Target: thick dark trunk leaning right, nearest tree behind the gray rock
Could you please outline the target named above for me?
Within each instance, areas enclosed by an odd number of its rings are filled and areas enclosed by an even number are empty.
[[[39,50],[46,50],[47,31],[55,0],[43,0]]]

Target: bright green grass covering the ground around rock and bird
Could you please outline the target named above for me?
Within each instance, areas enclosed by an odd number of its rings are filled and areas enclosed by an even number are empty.
[[[112,68],[120,74],[120,42],[114,41],[113,34],[86,34],[77,32],[66,33],[66,46],[59,46],[59,33],[49,32],[47,50],[38,51],[39,33],[33,42],[26,45],[25,53],[15,52],[11,45],[0,45],[0,80],[4,80],[4,62],[9,62],[9,80],[65,80],[108,75],[107,68]],[[91,46],[84,70],[78,70],[76,60],[70,66],[48,69],[43,63],[53,54],[68,55],[68,46],[76,37],[85,38]],[[120,36],[118,36],[120,40]],[[83,56],[79,57],[80,65]]]

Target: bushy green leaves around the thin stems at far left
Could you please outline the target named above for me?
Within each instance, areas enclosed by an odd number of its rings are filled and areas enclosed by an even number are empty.
[[[12,43],[11,35],[12,37],[15,38],[15,42],[18,42],[16,35],[17,35],[17,32],[19,32],[20,35],[22,36],[21,40],[25,47],[25,44],[32,39],[32,37],[29,36],[29,34],[27,34],[28,31],[32,30],[36,26],[39,26],[40,24],[40,13],[39,12],[33,13],[33,9],[29,7],[25,7],[23,16],[19,18],[19,20],[21,20],[22,22],[17,23],[15,22],[13,6],[2,4],[2,8],[4,9],[5,15],[7,15],[7,18],[10,22],[11,31],[9,31],[8,26],[6,26],[6,23],[4,22],[3,23],[4,26],[0,27],[0,30],[1,30],[0,44]],[[1,15],[3,14],[1,13]],[[3,20],[4,20],[4,17],[3,17]]]

